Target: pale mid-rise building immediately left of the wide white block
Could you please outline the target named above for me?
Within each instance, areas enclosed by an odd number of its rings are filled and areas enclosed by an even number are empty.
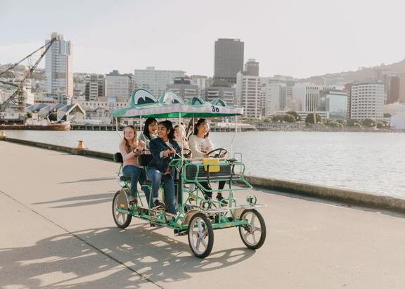
[[[117,70],[105,75],[105,96],[128,99],[135,90],[133,75],[121,75]]]

